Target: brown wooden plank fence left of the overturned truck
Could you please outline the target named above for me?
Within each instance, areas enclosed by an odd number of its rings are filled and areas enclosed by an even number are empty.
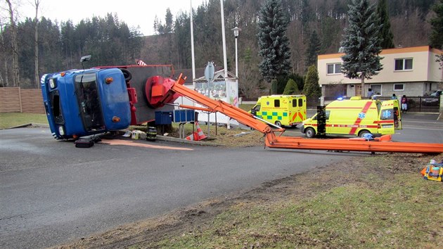
[[[20,87],[1,87],[0,113],[44,114],[41,90],[20,89]]]

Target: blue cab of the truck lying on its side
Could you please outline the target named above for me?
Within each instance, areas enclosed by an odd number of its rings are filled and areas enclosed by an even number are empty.
[[[41,92],[56,139],[77,139],[125,129],[131,123],[127,84],[118,68],[68,70],[43,75]]]

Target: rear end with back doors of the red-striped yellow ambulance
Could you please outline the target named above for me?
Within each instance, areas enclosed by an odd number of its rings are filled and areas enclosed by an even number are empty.
[[[402,129],[402,117],[400,115],[399,103],[396,100],[383,101],[378,117],[380,134],[394,134],[395,129]]]

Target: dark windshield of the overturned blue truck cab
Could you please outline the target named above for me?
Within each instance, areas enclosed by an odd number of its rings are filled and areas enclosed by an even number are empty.
[[[75,77],[75,94],[86,131],[94,132],[105,129],[96,74],[77,75]]]

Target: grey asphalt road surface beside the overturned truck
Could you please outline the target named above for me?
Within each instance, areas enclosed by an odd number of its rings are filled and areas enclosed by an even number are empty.
[[[443,143],[443,122],[436,119],[407,113],[393,139]],[[58,245],[367,155],[139,142],[151,147],[75,148],[46,128],[0,130],[0,248]]]

